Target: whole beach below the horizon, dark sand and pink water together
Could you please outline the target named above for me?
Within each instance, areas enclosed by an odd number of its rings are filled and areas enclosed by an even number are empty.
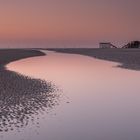
[[[140,137],[140,73],[117,68],[139,50],[49,50],[0,52],[0,139]]]

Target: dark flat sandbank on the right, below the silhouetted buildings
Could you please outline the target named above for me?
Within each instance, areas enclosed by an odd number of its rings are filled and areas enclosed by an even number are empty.
[[[98,59],[118,62],[120,63],[118,67],[140,70],[140,49],[55,48],[48,50],[87,55]]]

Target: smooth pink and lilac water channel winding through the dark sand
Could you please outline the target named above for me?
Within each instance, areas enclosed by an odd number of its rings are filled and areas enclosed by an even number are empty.
[[[62,102],[55,117],[40,119],[39,135],[30,131],[30,139],[140,139],[140,72],[86,56],[51,52],[8,68],[52,81],[68,97],[69,104]]]

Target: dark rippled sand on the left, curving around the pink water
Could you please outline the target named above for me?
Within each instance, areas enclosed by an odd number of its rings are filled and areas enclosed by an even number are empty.
[[[12,61],[42,55],[37,50],[0,50],[0,131],[24,127],[34,121],[34,115],[55,105],[52,83],[5,68]]]

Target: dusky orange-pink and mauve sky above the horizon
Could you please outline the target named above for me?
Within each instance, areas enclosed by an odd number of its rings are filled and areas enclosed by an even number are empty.
[[[0,40],[140,39],[140,0],[0,0]]]

